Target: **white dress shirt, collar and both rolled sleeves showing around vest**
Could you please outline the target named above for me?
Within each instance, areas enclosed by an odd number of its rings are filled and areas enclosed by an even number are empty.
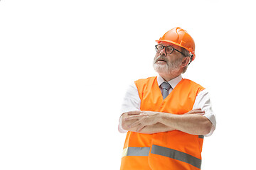
[[[171,88],[169,90],[169,94],[171,91],[175,88],[175,86],[181,81],[182,77],[181,75],[171,79],[169,84],[171,85]],[[160,86],[164,82],[164,79],[160,76],[157,77],[157,83]],[[161,92],[162,89],[160,88]],[[129,111],[140,111],[140,104],[141,100],[139,98],[139,92],[137,89],[137,86],[133,82],[129,85],[129,88],[127,89],[127,93],[124,96],[124,101],[122,103],[121,107],[121,113],[127,113]],[[213,134],[213,131],[216,127],[216,119],[215,114],[213,113],[212,106],[210,103],[210,96],[208,94],[208,91],[204,89],[201,91],[198,96],[196,96],[196,101],[193,105],[193,109],[201,108],[202,111],[205,111],[205,114],[203,116],[206,116],[210,120],[210,122],[213,124],[210,132],[205,136],[210,136]],[[122,119],[119,119],[119,132],[127,132],[127,130],[124,130],[122,128]]]

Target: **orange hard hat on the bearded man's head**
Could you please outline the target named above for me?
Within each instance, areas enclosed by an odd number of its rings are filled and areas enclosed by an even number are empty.
[[[185,48],[191,52],[191,61],[193,61],[196,57],[195,42],[191,35],[189,35],[186,30],[183,30],[182,28],[172,28],[171,30],[167,31],[163,37],[156,40],[156,42],[170,42],[171,44]]]

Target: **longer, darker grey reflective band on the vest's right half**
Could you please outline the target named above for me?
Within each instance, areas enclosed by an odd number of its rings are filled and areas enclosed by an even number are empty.
[[[198,169],[201,169],[201,159],[191,156],[190,154],[186,154],[184,152],[180,152],[174,149],[170,149],[168,147],[160,147],[157,145],[152,145],[151,154],[159,154],[164,157],[169,157],[172,159],[176,159],[181,162],[186,162],[195,166]]]

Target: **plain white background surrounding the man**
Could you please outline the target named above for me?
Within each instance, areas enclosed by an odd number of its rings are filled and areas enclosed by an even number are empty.
[[[196,42],[183,77],[217,114],[202,169],[253,169],[255,14],[246,0],[1,0],[0,169],[119,169],[122,98],[176,26]]]

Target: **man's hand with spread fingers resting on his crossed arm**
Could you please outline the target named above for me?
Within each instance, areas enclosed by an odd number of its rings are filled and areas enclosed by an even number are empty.
[[[137,132],[140,132],[145,126],[159,123],[161,118],[160,113],[152,111],[131,111],[127,114],[128,117],[124,118],[124,120],[137,120],[131,125],[128,125],[128,128],[134,128],[137,126]]]

